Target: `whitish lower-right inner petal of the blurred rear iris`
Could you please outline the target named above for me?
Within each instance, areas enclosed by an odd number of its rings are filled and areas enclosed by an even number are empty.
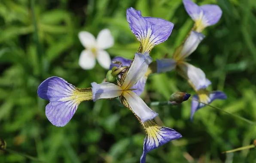
[[[195,86],[196,90],[207,88],[211,84],[210,80],[205,77],[204,72],[192,64],[182,63],[179,68],[182,69],[184,75]]]

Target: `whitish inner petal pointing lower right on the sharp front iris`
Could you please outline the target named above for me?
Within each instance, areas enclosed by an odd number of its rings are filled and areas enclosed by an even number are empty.
[[[144,123],[145,121],[152,120],[158,113],[152,111],[146,103],[133,91],[124,91],[121,97],[121,102],[124,106],[131,109],[135,115]]]

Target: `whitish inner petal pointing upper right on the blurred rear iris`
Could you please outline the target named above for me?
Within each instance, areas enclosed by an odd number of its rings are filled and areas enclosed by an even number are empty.
[[[196,32],[194,30],[191,31],[188,38],[182,45],[182,49],[180,54],[177,56],[178,59],[183,59],[192,54],[195,49],[198,47],[200,42],[204,39],[204,35],[202,33]]]

